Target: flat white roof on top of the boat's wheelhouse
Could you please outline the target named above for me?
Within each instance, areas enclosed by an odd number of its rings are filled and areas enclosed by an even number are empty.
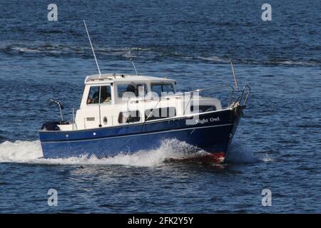
[[[169,78],[158,78],[151,76],[136,76],[120,73],[102,73],[101,76],[98,74],[87,76],[85,79],[85,84],[96,84],[96,83],[115,83],[115,82],[142,82],[142,81],[156,81],[156,82],[168,82],[173,83],[175,80]]]

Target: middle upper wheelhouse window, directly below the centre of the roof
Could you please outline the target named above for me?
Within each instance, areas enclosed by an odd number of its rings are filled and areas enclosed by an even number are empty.
[[[117,86],[118,98],[144,96],[147,93],[145,83],[130,83]]]

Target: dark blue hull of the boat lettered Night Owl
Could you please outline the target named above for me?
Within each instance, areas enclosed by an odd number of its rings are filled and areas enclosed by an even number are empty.
[[[240,107],[240,106],[239,106]],[[96,155],[108,157],[120,152],[151,150],[163,140],[176,139],[215,153],[228,150],[242,107],[199,114],[195,125],[187,118],[74,131],[39,131],[44,158]]]

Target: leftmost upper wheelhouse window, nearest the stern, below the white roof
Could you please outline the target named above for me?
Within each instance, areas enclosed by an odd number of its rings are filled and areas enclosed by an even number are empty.
[[[100,98],[100,100],[99,100]],[[87,104],[111,104],[111,86],[91,86]]]

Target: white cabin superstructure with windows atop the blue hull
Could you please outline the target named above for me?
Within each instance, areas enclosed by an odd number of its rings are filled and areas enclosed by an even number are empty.
[[[146,123],[221,110],[217,98],[177,93],[168,78],[101,74],[87,76],[73,123],[60,130],[85,130]]]

